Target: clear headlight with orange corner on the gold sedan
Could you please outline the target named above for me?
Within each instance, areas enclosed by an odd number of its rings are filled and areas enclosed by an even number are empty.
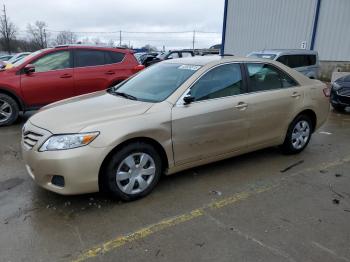
[[[54,135],[48,138],[39,151],[56,151],[82,147],[90,144],[99,135],[99,132]]]

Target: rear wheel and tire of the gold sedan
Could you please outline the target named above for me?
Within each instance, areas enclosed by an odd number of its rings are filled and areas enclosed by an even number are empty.
[[[281,146],[288,155],[298,154],[309,144],[314,126],[307,115],[297,116],[289,125],[286,138]]]

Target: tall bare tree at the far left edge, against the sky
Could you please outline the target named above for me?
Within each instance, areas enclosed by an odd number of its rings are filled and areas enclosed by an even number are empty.
[[[0,35],[2,46],[7,52],[11,53],[13,50],[12,42],[16,39],[16,27],[9,21],[5,5],[0,18]]]

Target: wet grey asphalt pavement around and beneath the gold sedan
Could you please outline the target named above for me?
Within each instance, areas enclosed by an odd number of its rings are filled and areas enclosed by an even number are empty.
[[[0,129],[0,261],[350,261],[350,113],[278,148],[164,177],[148,197],[60,196]]]

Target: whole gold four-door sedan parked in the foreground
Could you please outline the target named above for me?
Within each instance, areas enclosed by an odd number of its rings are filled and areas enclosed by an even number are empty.
[[[299,153],[328,111],[323,83],[278,62],[173,59],[44,107],[23,127],[23,157],[48,190],[134,200],[162,174],[271,146]]]

